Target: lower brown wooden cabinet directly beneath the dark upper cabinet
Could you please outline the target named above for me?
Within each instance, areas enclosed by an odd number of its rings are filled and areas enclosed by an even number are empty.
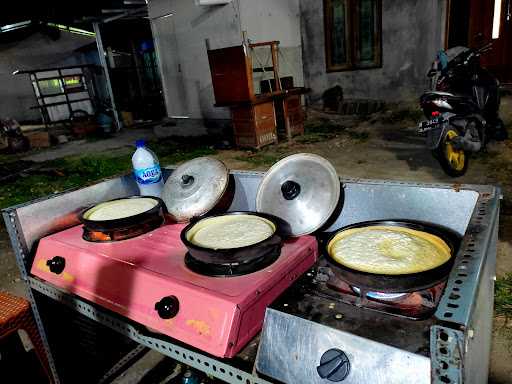
[[[233,106],[231,116],[238,147],[259,149],[277,143],[276,116],[272,99]]]

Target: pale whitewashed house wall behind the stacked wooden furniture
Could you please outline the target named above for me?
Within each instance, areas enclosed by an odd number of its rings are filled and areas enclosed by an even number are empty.
[[[242,44],[242,31],[254,42],[280,40],[281,74],[293,75],[296,84],[302,85],[299,0],[233,0],[217,6],[197,6],[193,0],[151,0],[148,5],[170,117],[230,118],[229,109],[214,107],[205,39],[211,49]],[[169,13],[173,16],[161,17]],[[256,54],[265,63],[269,51]],[[255,74],[256,89],[260,79],[261,74]],[[186,123],[180,120],[178,125]]]

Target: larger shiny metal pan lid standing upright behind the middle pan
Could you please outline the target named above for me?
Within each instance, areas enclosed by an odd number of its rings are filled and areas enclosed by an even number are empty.
[[[274,164],[263,177],[256,210],[289,224],[289,236],[321,228],[338,206],[340,181],[332,164],[321,156],[298,153]]]

